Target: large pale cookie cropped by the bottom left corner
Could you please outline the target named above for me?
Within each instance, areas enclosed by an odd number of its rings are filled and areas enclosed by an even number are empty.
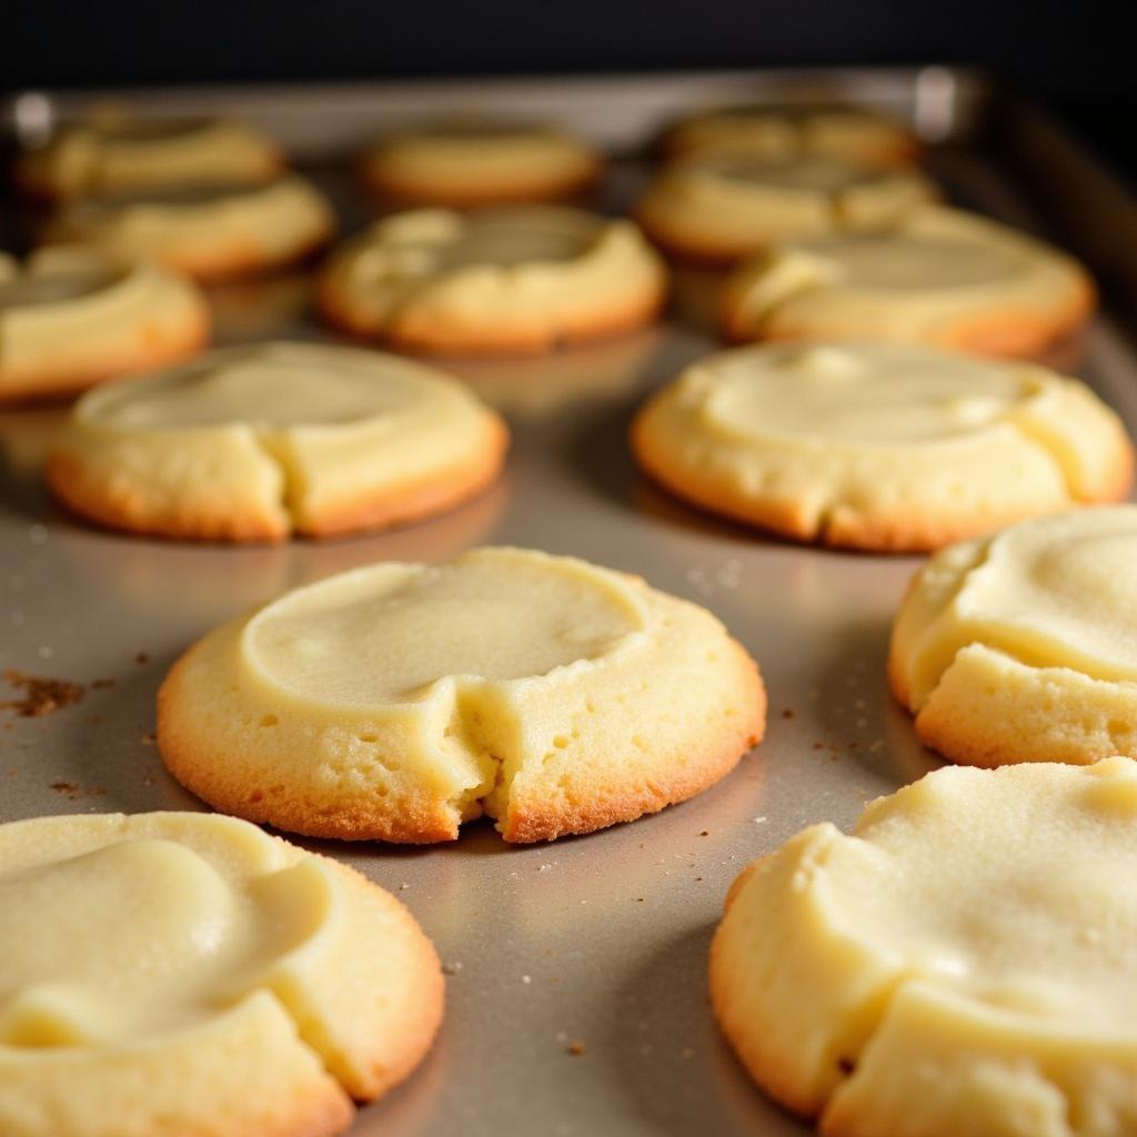
[[[0,827],[5,1137],[330,1137],[442,1014],[382,888],[232,818]]]

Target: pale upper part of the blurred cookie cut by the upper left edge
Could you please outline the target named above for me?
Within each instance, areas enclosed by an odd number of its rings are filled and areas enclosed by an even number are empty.
[[[198,289],[157,265],[78,247],[41,249],[23,267],[0,254],[0,381],[50,373],[72,348],[83,352],[72,367],[97,367],[102,355],[111,370],[136,366],[142,326],[182,325],[200,338],[207,322]]]

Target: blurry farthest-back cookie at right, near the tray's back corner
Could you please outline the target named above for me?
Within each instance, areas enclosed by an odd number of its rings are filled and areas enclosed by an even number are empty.
[[[906,165],[920,157],[913,132],[863,107],[825,103],[752,103],[704,110],[664,135],[665,153],[733,150],[762,158],[845,158],[875,165]]]

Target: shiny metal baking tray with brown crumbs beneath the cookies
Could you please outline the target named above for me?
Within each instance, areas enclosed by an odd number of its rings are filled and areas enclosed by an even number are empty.
[[[1107,307],[1077,371],[1137,431],[1137,208],[1043,115],[982,76],[929,67],[111,93],[144,115],[260,122],[333,193],[347,230],[370,213],[348,159],[395,119],[476,107],[561,121],[617,155],[603,206],[619,210],[647,175],[649,140],[681,110],[746,99],[886,108],[933,143],[932,172],[955,200],[1090,264]],[[0,107],[5,135],[34,139],[106,94],[18,94]],[[0,236],[17,248],[23,218],[6,217]],[[305,843],[405,901],[449,977],[433,1052],[360,1111],[355,1137],[810,1131],[755,1089],[720,1038],[707,947],[744,864],[812,822],[847,827],[866,799],[936,764],[883,678],[893,613],[920,562],[770,540],[637,473],[624,442],[633,407],[720,346],[697,318],[712,283],[688,274],[680,291],[694,305],[620,340],[447,364],[508,417],[506,475],[448,516],[377,537],[235,549],[88,529],[51,504],[40,478],[63,412],[0,414],[0,667],[84,689],[40,717],[0,712],[0,820],[202,808],[153,747],[166,669],[235,613],[374,559],[437,561],[489,542],[574,554],[706,605],[762,665],[765,741],[719,786],[654,818],[538,846],[507,846],[485,822],[446,846]],[[218,289],[219,340],[330,339],[308,297],[304,273]]]

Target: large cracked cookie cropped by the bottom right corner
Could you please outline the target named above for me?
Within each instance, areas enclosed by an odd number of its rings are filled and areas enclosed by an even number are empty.
[[[1132,1131],[1137,763],[947,767],[735,881],[715,1015],[827,1137]]]

